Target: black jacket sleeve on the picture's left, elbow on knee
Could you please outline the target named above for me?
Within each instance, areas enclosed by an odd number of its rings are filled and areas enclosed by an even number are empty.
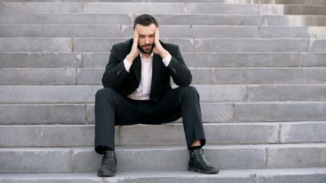
[[[102,85],[117,90],[129,73],[125,70],[123,60],[118,60],[116,53],[118,53],[116,46],[112,46],[109,62],[102,77]]]

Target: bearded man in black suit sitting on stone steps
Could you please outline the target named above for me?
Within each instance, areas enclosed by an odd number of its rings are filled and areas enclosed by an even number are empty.
[[[189,150],[189,171],[217,173],[203,156],[205,133],[199,94],[189,86],[192,74],[179,47],[160,40],[157,21],[150,15],[134,20],[134,38],[112,46],[95,95],[95,151],[102,156],[98,176],[116,174],[114,126],[162,124],[183,116]],[[170,76],[179,87],[171,89]],[[148,159],[150,161],[150,159]]]

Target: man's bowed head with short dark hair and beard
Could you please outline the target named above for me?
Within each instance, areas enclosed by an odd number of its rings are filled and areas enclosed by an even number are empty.
[[[137,28],[139,34],[138,49],[142,53],[148,54],[153,51],[157,27],[156,19],[150,15],[143,14],[134,19],[134,29]]]

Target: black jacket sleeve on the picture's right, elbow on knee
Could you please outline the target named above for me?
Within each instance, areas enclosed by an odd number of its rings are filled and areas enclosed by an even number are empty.
[[[189,86],[192,82],[192,73],[187,68],[183,56],[180,53],[179,46],[176,50],[176,58],[171,55],[171,61],[168,65],[169,73],[173,82],[180,87]]]

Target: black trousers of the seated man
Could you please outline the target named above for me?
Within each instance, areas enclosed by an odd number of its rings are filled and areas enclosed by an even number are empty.
[[[114,150],[115,125],[170,123],[183,117],[187,148],[196,139],[205,145],[199,94],[195,87],[170,89],[159,103],[132,100],[114,89],[105,87],[95,95],[95,151],[102,154],[106,147]]]

